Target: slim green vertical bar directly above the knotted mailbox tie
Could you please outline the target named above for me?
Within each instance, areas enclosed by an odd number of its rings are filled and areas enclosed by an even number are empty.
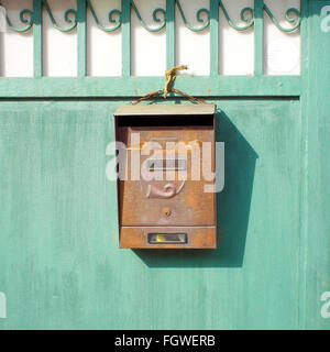
[[[176,63],[175,0],[166,0],[166,67]]]

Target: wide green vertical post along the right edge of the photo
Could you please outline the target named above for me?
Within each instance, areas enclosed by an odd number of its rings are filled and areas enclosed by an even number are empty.
[[[310,1],[309,13],[306,328],[330,329],[321,318],[321,296],[330,293],[330,1]]]

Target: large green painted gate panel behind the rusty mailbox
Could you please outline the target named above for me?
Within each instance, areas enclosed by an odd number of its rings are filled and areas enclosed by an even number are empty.
[[[106,179],[123,101],[0,103],[0,329],[297,329],[298,100],[219,100],[219,249],[118,249]]]

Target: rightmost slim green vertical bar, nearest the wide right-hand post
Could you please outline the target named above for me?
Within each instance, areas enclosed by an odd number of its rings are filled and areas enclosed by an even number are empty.
[[[264,73],[264,1],[254,0],[254,75]]]

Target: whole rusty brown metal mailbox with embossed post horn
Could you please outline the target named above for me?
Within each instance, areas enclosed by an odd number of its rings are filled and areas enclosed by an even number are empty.
[[[116,111],[120,248],[217,248],[216,194],[207,187],[216,183],[215,112],[209,103]]]

